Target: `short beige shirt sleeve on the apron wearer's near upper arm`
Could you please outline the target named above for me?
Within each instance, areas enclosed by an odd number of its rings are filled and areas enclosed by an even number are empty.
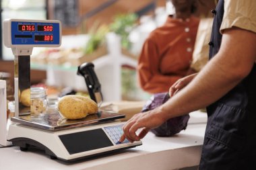
[[[225,0],[220,33],[233,26],[256,33],[256,1]]]

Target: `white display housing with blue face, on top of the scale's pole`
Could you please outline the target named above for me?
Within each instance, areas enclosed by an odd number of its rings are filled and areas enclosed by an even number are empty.
[[[57,20],[7,19],[3,30],[4,44],[10,48],[58,47],[61,44],[61,22]]]

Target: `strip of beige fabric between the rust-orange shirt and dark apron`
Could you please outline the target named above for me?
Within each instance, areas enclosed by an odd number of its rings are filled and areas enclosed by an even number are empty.
[[[209,60],[209,45],[212,32],[213,18],[203,18],[199,22],[197,37],[193,51],[191,69],[199,72]]]

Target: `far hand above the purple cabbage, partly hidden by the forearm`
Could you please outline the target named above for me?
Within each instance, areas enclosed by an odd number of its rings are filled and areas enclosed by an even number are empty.
[[[197,75],[197,73],[193,75],[188,75],[186,77],[183,77],[182,79],[177,80],[169,89],[169,95],[172,97],[175,95],[178,91],[183,89],[183,87],[187,86],[193,78]]]

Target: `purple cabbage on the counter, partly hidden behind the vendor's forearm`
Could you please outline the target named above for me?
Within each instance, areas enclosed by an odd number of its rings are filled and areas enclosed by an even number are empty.
[[[170,99],[168,93],[156,93],[150,97],[146,102],[141,112],[147,112],[149,110],[154,110],[158,106],[162,105]],[[171,113],[170,113],[171,114]],[[156,136],[172,136],[185,130],[187,128],[187,122],[189,121],[189,114],[184,116],[179,116],[176,118],[170,118],[158,128],[154,128],[151,131],[156,134]]]

